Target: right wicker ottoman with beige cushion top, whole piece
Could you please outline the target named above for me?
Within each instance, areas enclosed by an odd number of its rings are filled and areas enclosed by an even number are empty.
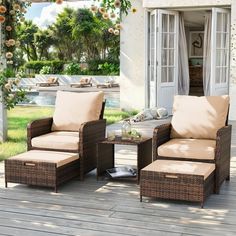
[[[200,202],[213,192],[215,164],[156,160],[141,170],[142,196]]]

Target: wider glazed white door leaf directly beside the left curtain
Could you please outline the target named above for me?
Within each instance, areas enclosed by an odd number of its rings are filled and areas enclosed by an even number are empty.
[[[157,106],[172,113],[178,91],[179,13],[158,10],[157,39]]]

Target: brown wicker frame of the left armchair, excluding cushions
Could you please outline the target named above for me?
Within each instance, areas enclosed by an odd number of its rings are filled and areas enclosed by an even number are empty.
[[[51,132],[53,118],[44,118],[31,122],[27,127],[27,148],[29,150],[51,150],[61,152],[79,153],[80,157],[80,179],[96,168],[96,143],[105,138],[106,120],[103,119],[105,102],[103,102],[99,120],[85,122],[79,129],[78,150],[38,148],[33,147],[31,140],[34,137],[45,135]]]

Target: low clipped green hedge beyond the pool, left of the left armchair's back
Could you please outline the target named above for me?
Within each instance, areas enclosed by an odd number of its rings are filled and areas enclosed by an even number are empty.
[[[63,71],[64,61],[29,61],[25,63],[24,68],[34,70],[35,73],[39,73],[40,70],[48,66],[51,69],[52,74],[60,74]]]

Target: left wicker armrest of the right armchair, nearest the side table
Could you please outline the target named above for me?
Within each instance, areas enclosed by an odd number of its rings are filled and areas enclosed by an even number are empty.
[[[152,139],[153,160],[157,159],[157,148],[170,140],[171,124],[163,124],[154,128]]]

